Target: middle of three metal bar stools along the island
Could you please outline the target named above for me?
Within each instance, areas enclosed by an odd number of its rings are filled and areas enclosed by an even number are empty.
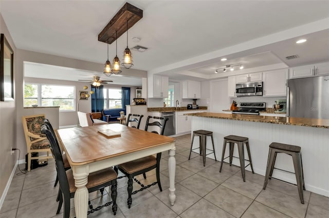
[[[241,168],[242,178],[243,178],[243,181],[246,182],[245,168],[247,166],[249,166],[249,164],[250,164],[252,173],[254,173],[253,167],[252,167],[252,162],[251,162],[251,156],[250,156],[249,139],[247,137],[234,136],[234,135],[229,135],[229,136],[224,137],[222,163],[221,163],[220,172],[222,171],[224,160],[226,158],[228,158],[228,157],[224,158],[227,143],[230,143],[230,156],[228,156],[230,158],[230,166],[232,165],[232,159],[237,158],[237,157],[233,156],[234,144],[237,144],[237,149],[239,150],[239,159],[240,159],[240,168]],[[244,143],[246,144],[247,151],[248,151],[248,157],[249,157],[249,160],[246,160],[246,161],[249,161],[249,164],[247,166],[245,166],[245,151],[244,151],[244,146],[243,146]]]

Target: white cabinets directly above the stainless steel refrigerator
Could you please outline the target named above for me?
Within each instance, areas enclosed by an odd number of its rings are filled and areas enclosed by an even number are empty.
[[[291,68],[289,78],[312,77],[329,74],[329,62]]]

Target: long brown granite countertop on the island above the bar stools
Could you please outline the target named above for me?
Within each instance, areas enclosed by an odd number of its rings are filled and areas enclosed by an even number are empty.
[[[329,129],[329,119],[310,119],[310,118],[296,118],[296,117],[273,117],[273,116],[259,116],[247,114],[223,114],[223,113],[194,113],[185,114],[187,116],[207,117],[228,120],[242,120],[262,123],[275,123],[284,125],[308,126]]]

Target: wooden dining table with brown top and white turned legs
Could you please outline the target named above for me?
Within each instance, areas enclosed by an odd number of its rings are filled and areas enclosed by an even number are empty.
[[[120,133],[107,137],[99,131]],[[136,160],[162,151],[169,151],[169,201],[175,195],[175,139],[122,124],[63,128],[56,131],[59,142],[71,165],[77,187],[74,202],[76,216],[87,217],[89,173]]]

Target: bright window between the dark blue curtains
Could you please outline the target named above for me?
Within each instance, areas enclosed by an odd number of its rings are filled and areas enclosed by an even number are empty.
[[[122,108],[121,89],[104,88],[104,109]]]

